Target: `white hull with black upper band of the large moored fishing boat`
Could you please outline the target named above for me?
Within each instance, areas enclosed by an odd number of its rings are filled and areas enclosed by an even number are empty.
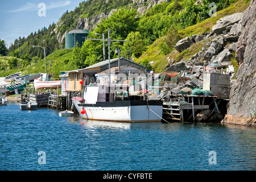
[[[118,122],[160,122],[162,119],[162,101],[114,101],[81,104],[73,100],[81,118]],[[85,114],[81,114],[84,107]]]

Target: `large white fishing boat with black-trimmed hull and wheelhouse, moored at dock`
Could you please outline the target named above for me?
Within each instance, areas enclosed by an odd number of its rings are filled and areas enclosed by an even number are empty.
[[[72,98],[81,118],[118,122],[160,122],[163,101],[129,100],[129,85],[87,85],[84,97]],[[108,92],[112,90],[112,92]],[[127,93],[117,97],[117,92]]]

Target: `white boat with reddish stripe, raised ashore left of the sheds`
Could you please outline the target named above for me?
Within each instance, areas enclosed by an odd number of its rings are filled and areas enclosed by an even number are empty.
[[[61,88],[61,80],[48,80],[46,73],[41,73],[39,78],[34,79],[35,90],[44,88]]]

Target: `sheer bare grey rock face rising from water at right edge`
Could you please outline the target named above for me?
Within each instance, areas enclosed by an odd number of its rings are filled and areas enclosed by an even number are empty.
[[[256,113],[256,0],[251,0],[242,19],[241,35],[237,43],[236,59],[241,63],[237,79],[230,90],[228,115],[247,121]],[[229,118],[227,118],[229,117]]]

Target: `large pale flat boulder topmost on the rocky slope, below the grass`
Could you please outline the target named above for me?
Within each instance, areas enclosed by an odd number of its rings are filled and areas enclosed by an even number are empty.
[[[212,32],[214,34],[222,34],[222,32],[225,31],[227,27],[240,22],[242,18],[243,18],[243,12],[225,16],[220,20],[218,20],[217,24],[212,27]]]

